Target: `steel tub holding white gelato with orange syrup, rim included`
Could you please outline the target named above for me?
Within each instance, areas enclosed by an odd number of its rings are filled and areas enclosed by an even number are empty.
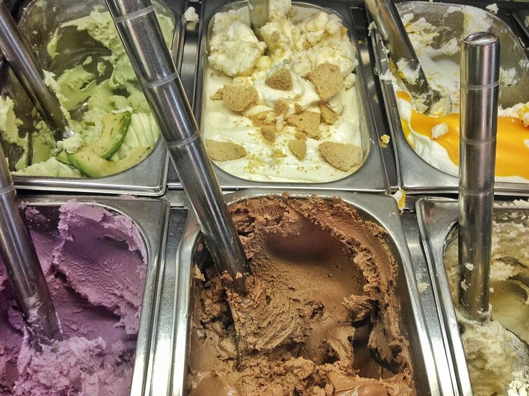
[[[401,65],[397,71],[373,28],[373,51],[401,188],[408,193],[457,193],[460,43],[471,32],[488,31],[498,36],[501,48],[495,191],[527,195],[524,117],[529,61],[519,37],[492,11],[474,6],[420,1],[396,6],[430,85],[450,102],[441,114],[413,110],[410,99],[414,98],[399,83],[399,73],[406,68]]]

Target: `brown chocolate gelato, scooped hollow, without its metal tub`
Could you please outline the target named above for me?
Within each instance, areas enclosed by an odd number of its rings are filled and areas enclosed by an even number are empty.
[[[227,294],[213,263],[199,264],[191,395],[415,395],[383,228],[338,199],[253,198],[229,210],[251,292]],[[260,293],[264,318],[244,309]]]

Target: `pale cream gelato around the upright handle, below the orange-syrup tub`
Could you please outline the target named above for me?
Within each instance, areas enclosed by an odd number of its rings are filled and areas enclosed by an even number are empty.
[[[527,221],[521,212],[513,211],[507,219],[493,223],[490,320],[481,325],[457,312],[458,320],[464,325],[462,341],[472,388],[478,396],[506,395],[509,388],[509,395],[529,390],[529,383],[518,384],[518,390],[512,389],[511,385],[514,380],[512,373],[519,364],[513,333],[529,342]],[[460,279],[457,239],[446,248],[445,266],[452,298],[457,306],[457,282]]]

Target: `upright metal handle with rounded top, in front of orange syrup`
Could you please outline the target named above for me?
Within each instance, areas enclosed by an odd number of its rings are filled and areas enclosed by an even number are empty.
[[[474,320],[488,313],[493,233],[500,42],[478,32],[461,48],[459,189],[460,307]]]

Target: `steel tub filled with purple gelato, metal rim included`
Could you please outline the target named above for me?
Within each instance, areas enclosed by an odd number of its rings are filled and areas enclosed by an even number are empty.
[[[35,353],[0,263],[0,390],[142,395],[168,203],[41,196],[23,197],[22,207],[64,339]]]

